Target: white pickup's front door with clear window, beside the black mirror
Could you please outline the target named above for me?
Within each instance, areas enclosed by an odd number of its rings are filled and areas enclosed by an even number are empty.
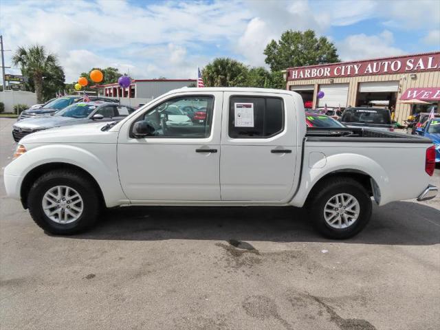
[[[222,102],[223,92],[173,94],[122,125],[118,170],[131,201],[220,200]],[[139,120],[148,120],[153,136],[133,136]]]

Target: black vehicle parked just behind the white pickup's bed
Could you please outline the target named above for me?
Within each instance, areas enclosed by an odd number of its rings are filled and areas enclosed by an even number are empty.
[[[340,120],[347,127],[364,127],[381,131],[394,131],[388,109],[373,107],[347,108]]]

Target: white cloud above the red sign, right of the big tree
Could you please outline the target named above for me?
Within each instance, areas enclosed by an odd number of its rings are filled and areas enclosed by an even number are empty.
[[[342,61],[361,60],[404,54],[405,52],[393,46],[393,33],[384,30],[382,33],[372,36],[366,34],[354,34],[337,42]]]

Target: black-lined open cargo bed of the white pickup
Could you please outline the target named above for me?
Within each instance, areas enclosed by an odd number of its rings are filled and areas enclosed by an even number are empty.
[[[426,143],[432,141],[426,137],[396,132],[384,132],[374,129],[356,128],[320,128],[307,127],[309,142],[389,142],[389,143]]]

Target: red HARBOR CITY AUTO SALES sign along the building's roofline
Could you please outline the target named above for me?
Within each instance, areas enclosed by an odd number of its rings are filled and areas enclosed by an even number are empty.
[[[287,69],[287,80],[404,74],[440,70],[440,52]]]

